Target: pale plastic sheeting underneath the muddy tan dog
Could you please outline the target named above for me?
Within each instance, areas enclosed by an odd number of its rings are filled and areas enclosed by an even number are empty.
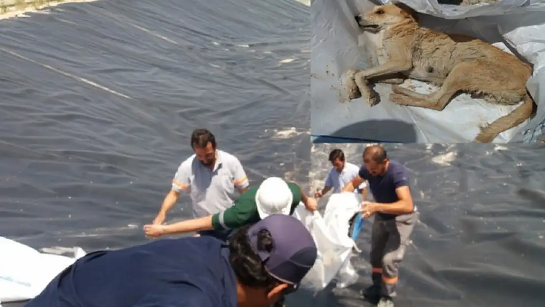
[[[349,101],[343,88],[346,71],[374,67],[377,63],[373,34],[361,33],[354,16],[386,2],[314,0],[311,6],[311,132],[314,136],[384,142],[471,142],[482,125],[517,107],[487,104],[467,94],[453,99],[443,111],[398,106],[389,101],[390,85],[375,86],[380,95],[376,106],[368,106],[362,98]],[[545,3],[498,0],[459,6],[439,4],[437,0],[401,2],[428,14],[420,14],[422,26],[471,35],[505,51],[510,47],[534,65],[534,73],[526,86],[538,106],[536,116],[504,131],[493,142],[535,141],[545,127]],[[403,86],[408,84],[416,86],[416,91],[421,93],[437,89],[414,80],[405,81]]]

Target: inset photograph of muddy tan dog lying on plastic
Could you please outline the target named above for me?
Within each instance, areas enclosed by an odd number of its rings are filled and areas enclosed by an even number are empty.
[[[313,142],[535,142],[545,13],[525,3],[314,0]]]

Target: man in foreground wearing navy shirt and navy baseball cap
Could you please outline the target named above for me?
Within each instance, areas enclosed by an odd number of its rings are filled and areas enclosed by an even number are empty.
[[[298,288],[317,248],[293,216],[273,214],[213,237],[97,251],[66,268],[26,307],[266,307]]]

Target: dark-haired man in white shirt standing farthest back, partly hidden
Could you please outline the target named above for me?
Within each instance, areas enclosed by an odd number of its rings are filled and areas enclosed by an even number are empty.
[[[360,167],[346,161],[344,153],[341,149],[333,149],[329,153],[329,161],[331,162],[331,170],[328,177],[325,178],[325,186],[322,190],[318,190],[314,197],[319,198],[327,194],[331,189],[334,193],[341,192],[344,186],[351,182],[354,177],[358,176]],[[365,201],[367,196],[367,182],[364,180],[354,192],[361,192],[362,201]]]

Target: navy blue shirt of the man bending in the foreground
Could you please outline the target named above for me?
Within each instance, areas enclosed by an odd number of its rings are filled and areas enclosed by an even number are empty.
[[[26,307],[236,307],[228,246],[161,239],[78,259]]]

